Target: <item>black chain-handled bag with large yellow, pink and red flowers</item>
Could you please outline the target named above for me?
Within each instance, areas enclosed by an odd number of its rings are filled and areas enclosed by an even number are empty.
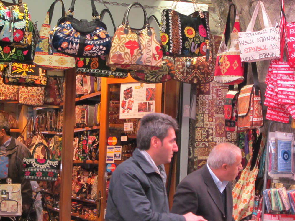
[[[177,2],[177,0],[173,2],[174,9]],[[209,14],[208,12],[201,12],[195,0],[192,2],[196,12],[191,15],[181,14],[174,9],[162,11],[160,34],[163,53],[164,55],[185,57],[207,55],[208,60]]]

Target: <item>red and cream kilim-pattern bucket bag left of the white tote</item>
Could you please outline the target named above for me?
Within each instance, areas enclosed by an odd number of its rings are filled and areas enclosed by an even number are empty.
[[[230,30],[230,12],[234,8],[235,22]],[[235,5],[230,4],[227,22],[222,35],[222,42],[217,54],[214,81],[228,85],[239,84],[244,81],[244,64],[241,62],[238,37],[240,32],[240,20]],[[227,47],[231,39],[230,48]]]

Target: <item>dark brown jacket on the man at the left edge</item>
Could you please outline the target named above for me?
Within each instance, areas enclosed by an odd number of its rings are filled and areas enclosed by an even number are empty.
[[[17,139],[11,137],[5,156],[8,157],[8,177],[12,183],[20,183],[22,189],[22,204],[32,204],[32,187],[30,180],[22,178],[23,159],[30,158],[30,150]]]

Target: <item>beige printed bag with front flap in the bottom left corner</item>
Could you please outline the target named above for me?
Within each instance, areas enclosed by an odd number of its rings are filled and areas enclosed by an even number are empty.
[[[7,184],[0,184],[0,216],[22,215],[22,193],[20,184],[12,184],[8,178]]]

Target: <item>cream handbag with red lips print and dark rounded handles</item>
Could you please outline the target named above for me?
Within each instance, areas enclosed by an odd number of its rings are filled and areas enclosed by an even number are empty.
[[[134,5],[143,9],[145,22],[142,29],[129,27],[129,12]],[[130,4],[112,39],[107,65],[132,70],[156,70],[162,65],[162,57],[161,45],[155,30],[150,27],[144,6],[137,2]]]

